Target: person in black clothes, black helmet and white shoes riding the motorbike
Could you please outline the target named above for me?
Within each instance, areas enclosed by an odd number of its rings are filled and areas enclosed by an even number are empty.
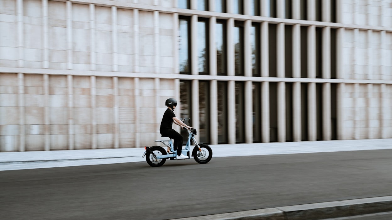
[[[166,112],[163,114],[161,127],[160,127],[159,131],[162,134],[162,136],[174,139],[174,150],[177,147],[176,159],[188,159],[189,158],[188,156],[185,156],[181,153],[184,137],[182,135],[180,135],[178,132],[176,132],[174,129],[172,129],[172,124],[174,122],[174,124],[181,126],[182,129],[184,127],[191,129],[192,127],[183,123],[174,114],[174,109],[177,106],[176,99],[173,99],[173,98],[167,99],[165,102],[165,105],[167,106],[167,109],[166,109]]]

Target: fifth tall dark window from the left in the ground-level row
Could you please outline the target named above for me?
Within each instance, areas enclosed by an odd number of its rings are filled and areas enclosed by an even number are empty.
[[[253,142],[261,142],[261,83],[252,83],[253,98]]]

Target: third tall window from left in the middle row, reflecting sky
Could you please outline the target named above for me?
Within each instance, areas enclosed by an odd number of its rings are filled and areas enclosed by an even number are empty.
[[[227,75],[226,72],[226,29],[225,24],[222,22],[216,23],[215,46],[216,46],[216,60],[217,60],[217,73],[218,76]]]

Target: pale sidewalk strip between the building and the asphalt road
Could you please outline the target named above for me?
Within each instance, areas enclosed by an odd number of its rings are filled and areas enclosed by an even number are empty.
[[[392,139],[210,145],[213,157],[392,149]],[[191,147],[191,150],[193,146]],[[145,161],[144,148],[0,153],[0,171]]]

